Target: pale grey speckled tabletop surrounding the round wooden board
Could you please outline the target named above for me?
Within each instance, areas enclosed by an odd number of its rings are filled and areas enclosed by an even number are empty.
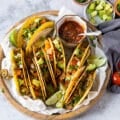
[[[23,17],[38,11],[60,9],[63,5],[83,15],[83,9],[72,0],[0,0],[0,40],[10,26]],[[105,92],[92,109],[74,120],[120,120],[119,114],[120,95]],[[33,118],[18,112],[0,93],[0,120],[33,120]]]

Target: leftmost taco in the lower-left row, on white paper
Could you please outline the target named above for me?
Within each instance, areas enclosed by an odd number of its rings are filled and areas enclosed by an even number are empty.
[[[13,79],[16,90],[21,95],[30,95],[29,85],[27,81],[26,70],[23,64],[24,53],[22,49],[11,50],[11,62]]]

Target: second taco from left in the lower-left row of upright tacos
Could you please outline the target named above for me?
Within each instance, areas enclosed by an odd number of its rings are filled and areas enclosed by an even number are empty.
[[[33,55],[26,57],[26,65],[27,65],[27,75],[29,86],[31,87],[31,93],[34,99],[40,98],[42,100],[46,99],[46,91],[44,89],[44,82],[39,76],[36,62],[33,59]]]

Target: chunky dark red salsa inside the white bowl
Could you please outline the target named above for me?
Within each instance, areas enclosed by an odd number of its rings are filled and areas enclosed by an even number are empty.
[[[65,21],[59,28],[59,36],[66,42],[78,43],[83,36],[78,34],[83,33],[83,27],[75,21]]]

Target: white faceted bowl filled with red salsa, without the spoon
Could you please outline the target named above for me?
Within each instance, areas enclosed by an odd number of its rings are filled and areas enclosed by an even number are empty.
[[[56,24],[57,35],[61,38],[63,44],[68,47],[75,47],[84,40],[85,36],[80,33],[87,32],[87,25],[77,15],[63,16]]]

